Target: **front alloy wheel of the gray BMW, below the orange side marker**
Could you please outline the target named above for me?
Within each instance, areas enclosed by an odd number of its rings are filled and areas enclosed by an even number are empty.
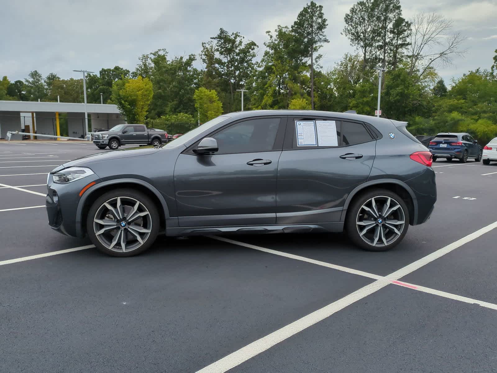
[[[128,253],[147,241],[152,230],[152,218],[139,200],[114,197],[97,209],[93,230],[98,241],[108,250]]]

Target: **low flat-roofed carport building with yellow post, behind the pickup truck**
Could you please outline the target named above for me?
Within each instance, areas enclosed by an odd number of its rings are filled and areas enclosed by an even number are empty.
[[[125,122],[116,105],[88,103],[86,108],[90,132]],[[61,113],[67,113],[69,136],[83,138],[86,135],[83,103],[0,100],[0,138],[5,138],[7,131],[21,132],[23,128],[28,133],[59,136]]]

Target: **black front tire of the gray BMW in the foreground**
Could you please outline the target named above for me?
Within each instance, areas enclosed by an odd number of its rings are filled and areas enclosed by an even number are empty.
[[[122,205],[124,217],[119,218],[115,216],[115,213],[120,213],[117,203],[115,206],[113,205],[116,200],[120,201]],[[136,202],[139,202],[139,205],[137,210],[133,212]],[[110,204],[114,212],[111,212],[104,203]],[[138,211],[141,211],[139,214],[142,215],[128,222],[126,215],[135,215]],[[128,217],[133,218],[133,216]],[[105,221],[105,224],[94,222],[94,219]],[[106,229],[105,232],[99,235],[100,238],[97,237],[96,232],[102,230],[102,228],[112,226],[109,223],[113,221],[115,221],[114,228]],[[125,228],[121,228],[120,222],[125,223]],[[102,253],[114,257],[131,257],[143,253],[156,240],[160,224],[159,212],[154,202],[144,193],[133,189],[116,189],[104,193],[93,202],[86,216],[86,231],[93,245]],[[124,251],[121,244],[122,236],[120,236],[123,233],[126,238],[124,241]],[[112,247],[112,241],[116,235],[116,243]],[[139,242],[137,237],[140,237],[143,243]]]

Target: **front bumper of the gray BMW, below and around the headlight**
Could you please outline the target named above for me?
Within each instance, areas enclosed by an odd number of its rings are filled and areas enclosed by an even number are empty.
[[[48,225],[66,236],[81,237],[81,229],[77,227],[76,210],[81,199],[80,191],[91,182],[98,183],[95,174],[68,184],[56,184],[50,174],[47,180]],[[80,233],[80,234],[78,234]]]

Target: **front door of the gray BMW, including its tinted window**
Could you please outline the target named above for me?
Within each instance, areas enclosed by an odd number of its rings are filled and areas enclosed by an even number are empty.
[[[215,154],[195,155],[197,144],[180,154],[174,166],[179,225],[274,224],[285,125],[281,117],[238,121],[206,136],[217,140]]]

